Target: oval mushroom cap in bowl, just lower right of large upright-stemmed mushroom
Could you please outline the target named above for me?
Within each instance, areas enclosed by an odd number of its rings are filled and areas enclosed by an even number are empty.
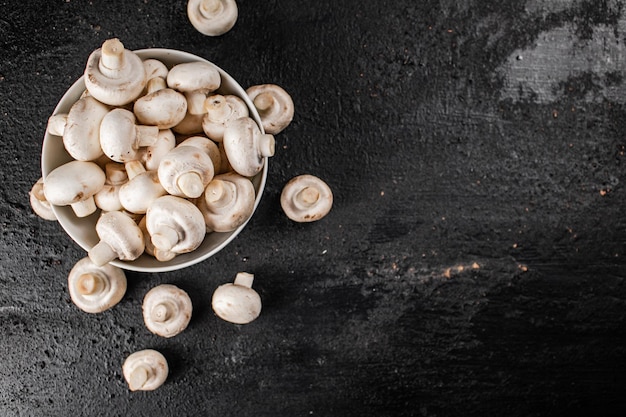
[[[170,129],[185,118],[187,100],[178,91],[164,88],[137,99],[133,112],[139,123]]]

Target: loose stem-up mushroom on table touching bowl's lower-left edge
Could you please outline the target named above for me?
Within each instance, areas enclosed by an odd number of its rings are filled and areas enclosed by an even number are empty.
[[[126,293],[126,275],[121,268],[95,265],[85,257],[67,278],[72,302],[87,313],[101,313],[119,303]]]

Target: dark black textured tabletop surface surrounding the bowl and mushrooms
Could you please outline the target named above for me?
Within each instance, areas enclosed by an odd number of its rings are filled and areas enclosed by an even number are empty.
[[[626,413],[626,10],[609,0],[239,1],[219,38],[182,1],[0,1],[0,414],[554,416]],[[47,117],[110,37],[203,56],[289,91],[261,205],[214,258],[128,273],[99,315],[69,299],[83,256],[32,214]],[[324,178],[330,215],[280,210]],[[255,274],[259,319],[210,297]],[[191,294],[173,339],[143,295]],[[171,375],[130,393],[121,363]]]

